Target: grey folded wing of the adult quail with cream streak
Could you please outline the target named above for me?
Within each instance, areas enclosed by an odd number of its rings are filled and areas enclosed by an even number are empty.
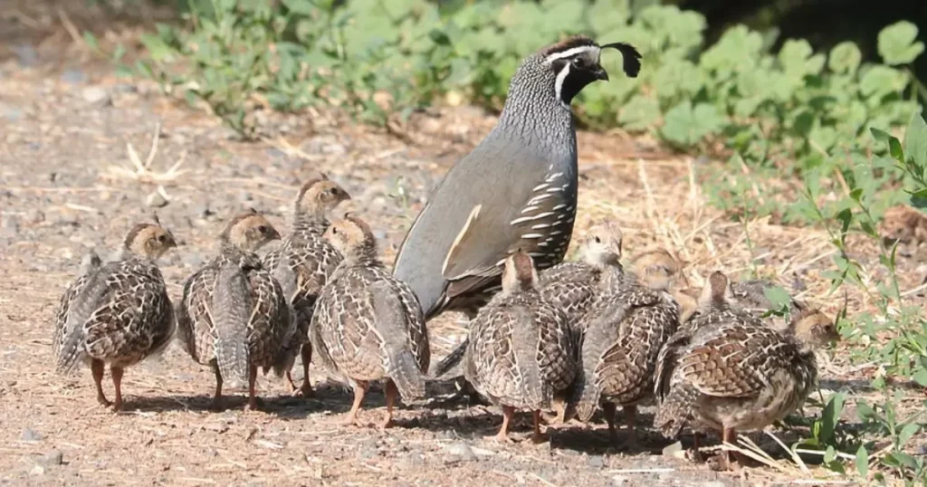
[[[541,222],[572,214],[565,210],[576,204],[568,184],[576,174],[559,171],[533,147],[496,132],[451,168],[406,235],[394,266],[425,315],[498,279],[511,250],[537,252],[552,245],[551,236],[568,243],[572,217]],[[565,244],[552,250],[563,251]]]

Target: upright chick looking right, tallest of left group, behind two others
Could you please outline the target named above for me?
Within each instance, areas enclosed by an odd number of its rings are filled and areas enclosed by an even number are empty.
[[[312,310],[325,280],[341,263],[341,254],[323,237],[329,226],[326,215],[347,199],[350,199],[348,192],[337,183],[329,181],[324,174],[306,181],[299,189],[294,205],[293,232],[284,238],[277,249],[264,257],[264,267],[280,283],[296,319],[294,340],[290,340],[284,352],[284,369],[292,391],[303,397],[312,394],[309,381],[309,364],[312,360],[309,324]],[[303,374],[302,386],[299,388],[290,375],[297,352],[302,357]]]

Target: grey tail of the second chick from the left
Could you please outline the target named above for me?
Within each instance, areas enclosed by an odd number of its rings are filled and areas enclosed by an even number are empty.
[[[219,340],[216,361],[225,380],[248,381],[248,277],[237,265],[224,265],[212,294],[212,324]]]

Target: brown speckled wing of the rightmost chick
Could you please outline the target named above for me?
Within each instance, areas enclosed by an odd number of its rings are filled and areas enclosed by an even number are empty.
[[[703,336],[699,336],[703,335]],[[768,374],[781,363],[788,344],[772,328],[722,325],[702,333],[679,357],[677,367],[698,391],[718,397],[753,397],[768,385]]]

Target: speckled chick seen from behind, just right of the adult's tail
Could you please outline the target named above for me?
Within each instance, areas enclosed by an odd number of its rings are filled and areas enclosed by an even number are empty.
[[[540,412],[550,409],[576,375],[576,340],[566,315],[544,300],[537,281],[531,257],[515,252],[505,261],[502,292],[470,323],[464,377],[502,406],[502,428],[495,436],[500,441],[508,441],[516,409],[534,414],[532,438],[543,441]]]

